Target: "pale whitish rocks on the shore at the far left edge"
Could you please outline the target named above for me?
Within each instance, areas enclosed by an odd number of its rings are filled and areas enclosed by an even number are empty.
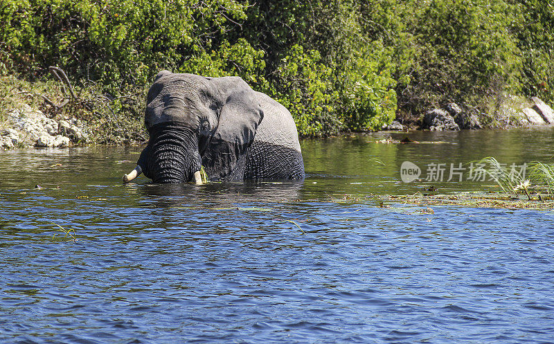
[[[29,105],[7,112],[0,127],[0,149],[69,147],[87,143],[83,123],[75,118],[52,119]]]

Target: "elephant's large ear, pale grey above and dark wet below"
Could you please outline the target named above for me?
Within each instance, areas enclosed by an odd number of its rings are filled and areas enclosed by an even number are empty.
[[[249,86],[227,93],[203,159],[211,179],[242,179],[245,153],[262,119],[260,102]]]

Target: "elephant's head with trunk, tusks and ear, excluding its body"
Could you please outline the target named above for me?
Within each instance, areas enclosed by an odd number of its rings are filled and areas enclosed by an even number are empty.
[[[238,77],[204,78],[161,71],[148,91],[150,141],[135,170],[154,183],[240,178],[245,153],[263,112],[256,93]]]

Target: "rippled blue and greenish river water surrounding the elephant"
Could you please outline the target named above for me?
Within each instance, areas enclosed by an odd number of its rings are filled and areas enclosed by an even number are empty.
[[[123,185],[140,147],[0,152],[0,343],[554,342],[553,212],[375,200],[498,190],[467,164],[552,162],[552,128],[301,144],[301,183],[202,186]]]

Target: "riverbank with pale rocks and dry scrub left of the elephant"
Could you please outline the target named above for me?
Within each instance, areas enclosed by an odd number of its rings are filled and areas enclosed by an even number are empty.
[[[92,82],[72,87],[53,80],[0,78],[0,150],[71,145],[140,145],[147,89],[113,97]]]

